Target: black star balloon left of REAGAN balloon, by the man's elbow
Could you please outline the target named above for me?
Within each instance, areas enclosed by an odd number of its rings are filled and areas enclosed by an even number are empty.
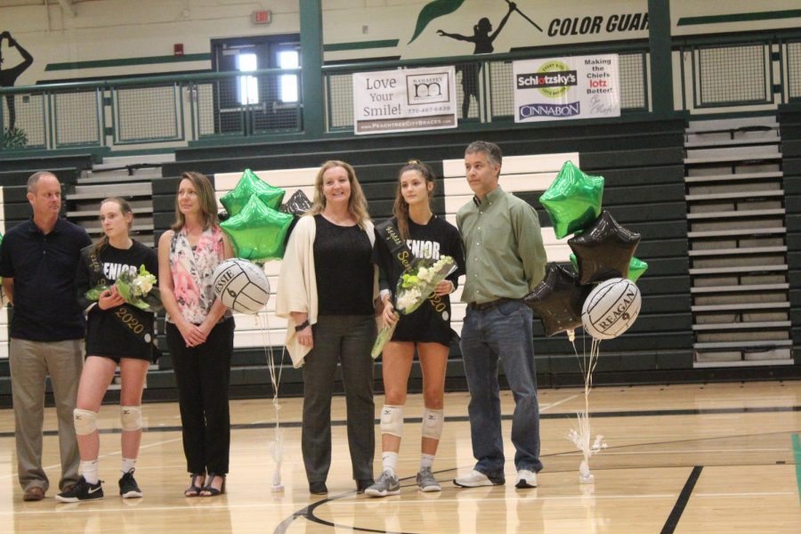
[[[581,326],[581,306],[592,288],[579,286],[576,273],[550,263],[545,278],[523,302],[542,320],[546,336],[554,336]]]

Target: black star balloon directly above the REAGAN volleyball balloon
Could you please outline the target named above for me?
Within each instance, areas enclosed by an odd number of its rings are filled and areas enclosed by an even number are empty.
[[[584,231],[568,239],[578,260],[578,282],[591,284],[627,278],[640,234],[619,225],[607,210]]]

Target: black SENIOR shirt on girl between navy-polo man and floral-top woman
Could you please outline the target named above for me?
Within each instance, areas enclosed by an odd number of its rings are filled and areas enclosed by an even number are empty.
[[[84,306],[91,304],[84,296],[87,290],[98,284],[113,285],[122,271],[138,273],[140,265],[144,265],[150,274],[158,276],[156,252],[139,241],[134,241],[134,245],[128,249],[110,245],[103,247],[97,255],[99,277],[92,267],[91,255],[93,247],[84,249],[76,276],[78,302]],[[101,310],[96,303],[91,307],[86,320],[86,355],[106,356],[117,361],[120,358],[150,360],[153,353],[152,344],[142,343],[125,331],[126,327],[114,317],[117,310],[118,307]],[[152,313],[143,312],[141,315],[150,321],[153,320]]]

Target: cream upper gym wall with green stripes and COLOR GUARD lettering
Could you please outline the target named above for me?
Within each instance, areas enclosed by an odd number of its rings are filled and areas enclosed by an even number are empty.
[[[16,85],[55,80],[137,76],[211,68],[210,41],[230,37],[297,34],[299,8],[310,0],[242,3],[238,0],[76,0],[60,3],[12,0],[0,6],[0,31],[10,31],[34,57]],[[425,19],[420,0],[322,0],[324,59],[417,59],[473,53],[472,43],[437,34],[471,36],[487,18],[497,31],[506,15],[503,0],[467,0],[455,11]],[[520,0],[491,43],[495,53],[648,38],[647,0]],[[793,0],[725,3],[671,0],[674,36],[797,28]],[[271,12],[255,24],[257,9]],[[183,45],[183,55],[174,54]],[[20,61],[4,41],[4,68]]]

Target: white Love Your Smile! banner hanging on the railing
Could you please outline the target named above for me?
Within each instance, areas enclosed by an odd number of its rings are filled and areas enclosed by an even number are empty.
[[[353,74],[353,132],[457,127],[455,79],[452,66]]]

